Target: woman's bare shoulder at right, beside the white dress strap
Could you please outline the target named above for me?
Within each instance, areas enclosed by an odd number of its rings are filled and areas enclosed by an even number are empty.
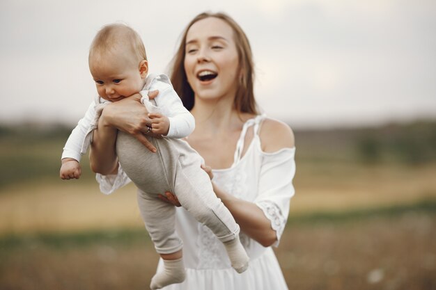
[[[260,142],[263,152],[277,152],[283,148],[293,148],[295,138],[288,124],[279,120],[266,118],[260,127]]]

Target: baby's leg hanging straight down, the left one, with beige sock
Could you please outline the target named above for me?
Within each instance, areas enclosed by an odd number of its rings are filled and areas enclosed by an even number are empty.
[[[174,227],[176,208],[140,189],[138,189],[138,204],[148,234],[164,261],[164,271],[153,276],[150,288],[161,289],[169,284],[183,282],[185,266],[182,261],[182,241]]]

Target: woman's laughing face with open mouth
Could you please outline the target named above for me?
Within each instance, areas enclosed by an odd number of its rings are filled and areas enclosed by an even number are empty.
[[[187,32],[185,72],[196,97],[234,98],[240,79],[233,29],[215,17],[201,19]]]

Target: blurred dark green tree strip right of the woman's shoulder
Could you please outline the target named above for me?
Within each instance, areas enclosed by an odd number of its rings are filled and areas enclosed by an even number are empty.
[[[300,162],[402,163],[436,161],[436,120],[380,127],[295,129]]]

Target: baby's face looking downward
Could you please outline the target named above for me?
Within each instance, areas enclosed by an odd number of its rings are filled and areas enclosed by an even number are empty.
[[[139,63],[125,51],[92,56],[89,69],[98,95],[111,102],[136,94],[145,83],[146,74],[141,74]]]

